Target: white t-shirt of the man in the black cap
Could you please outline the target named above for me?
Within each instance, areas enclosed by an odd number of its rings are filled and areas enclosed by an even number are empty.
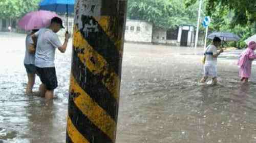
[[[40,29],[35,33],[38,37],[35,53],[35,66],[54,67],[55,49],[62,46],[58,35],[51,29]]]

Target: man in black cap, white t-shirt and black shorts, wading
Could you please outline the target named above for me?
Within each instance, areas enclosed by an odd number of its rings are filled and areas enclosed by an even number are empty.
[[[55,70],[55,50],[65,53],[70,38],[70,34],[65,33],[65,42],[61,44],[56,34],[61,28],[62,20],[59,17],[53,17],[48,28],[40,29],[32,35],[35,41],[37,38],[35,66],[42,84],[39,87],[41,97],[47,100],[53,99],[54,89],[58,86]]]

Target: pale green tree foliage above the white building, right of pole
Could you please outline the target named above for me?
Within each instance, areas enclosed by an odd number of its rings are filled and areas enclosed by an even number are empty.
[[[186,8],[183,0],[129,0],[127,17],[154,23],[157,28],[196,25],[197,8]]]

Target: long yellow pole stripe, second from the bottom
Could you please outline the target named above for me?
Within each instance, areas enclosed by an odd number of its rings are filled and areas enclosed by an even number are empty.
[[[112,120],[110,115],[107,114],[96,102],[94,102],[90,96],[83,91],[83,89],[81,89],[73,76],[71,76],[70,90],[80,93],[80,95],[74,99],[74,103],[79,110],[86,115],[95,126],[97,126],[101,131],[108,135],[113,142],[115,142],[115,121]]]

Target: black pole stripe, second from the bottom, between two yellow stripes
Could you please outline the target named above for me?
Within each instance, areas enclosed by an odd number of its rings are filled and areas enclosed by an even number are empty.
[[[114,121],[118,102],[111,92],[102,84],[102,75],[95,75],[81,62],[78,51],[73,48],[72,74],[79,86],[106,112]]]

